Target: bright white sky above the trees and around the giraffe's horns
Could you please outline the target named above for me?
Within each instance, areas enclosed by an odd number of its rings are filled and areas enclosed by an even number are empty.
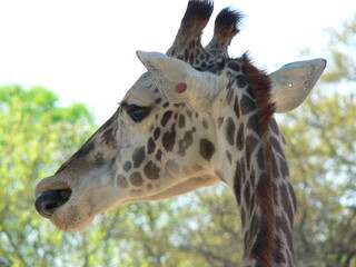
[[[42,86],[61,105],[83,102],[103,123],[145,71],[136,50],[166,52],[187,0],[0,0],[0,85]],[[328,57],[326,29],[356,13],[355,0],[216,0],[202,43],[225,7],[245,13],[230,56],[249,50],[273,72]],[[300,56],[309,49],[310,56]]]

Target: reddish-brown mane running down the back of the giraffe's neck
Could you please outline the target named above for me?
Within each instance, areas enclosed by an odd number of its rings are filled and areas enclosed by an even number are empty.
[[[263,263],[273,263],[273,251],[275,249],[275,225],[274,217],[274,188],[271,174],[271,145],[268,141],[269,122],[275,112],[275,103],[271,100],[271,81],[267,73],[259,70],[251,63],[248,53],[243,56],[244,72],[246,73],[251,93],[255,98],[258,113],[258,121],[260,127],[260,135],[263,139],[264,149],[264,175],[259,178],[257,185],[257,201],[261,208],[261,229],[257,234],[257,241],[251,248],[253,254],[263,260]]]

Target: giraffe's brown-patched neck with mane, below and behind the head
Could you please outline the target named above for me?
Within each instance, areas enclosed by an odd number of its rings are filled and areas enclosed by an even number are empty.
[[[251,82],[256,73],[244,73],[244,60],[235,65],[234,83],[220,92],[214,113],[219,157],[226,159],[217,169],[235,194],[244,228],[241,266],[294,266],[296,201],[284,139],[275,119],[261,118],[258,110],[253,88],[258,85]]]

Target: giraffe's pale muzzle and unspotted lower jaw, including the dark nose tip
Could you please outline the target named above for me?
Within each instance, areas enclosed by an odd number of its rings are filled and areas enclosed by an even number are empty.
[[[65,178],[55,175],[39,182],[36,189],[36,208],[42,217],[51,220],[65,231],[79,231],[86,228],[96,215],[122,204],[171,198],[220,181],[215,176],[201,174],[201,176],[180,180],[152,195],[130,198],[117,187],[92,188],[82,191],[78,189],[79,187],[69,186],[61,179]]]

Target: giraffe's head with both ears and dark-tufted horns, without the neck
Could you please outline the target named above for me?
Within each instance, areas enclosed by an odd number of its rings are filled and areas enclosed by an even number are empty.
[[[170,198],[228,181],[219,171],[220,95],[244,68],[227,56],[240,14],[224,9],[206,48],[210,1],[190,1],[167,55],[141,52],[147,68],[115,115],[36,189],[36,208],[63,230],[79,230],[118,205]],[[325,67],[295,62],[269,76],[276,110],[303,102]],[[243,80],[240,81],[243,82]],[[224,116],[224,115],[222,115]],[[224,151],[225,154],[225,151]]]

